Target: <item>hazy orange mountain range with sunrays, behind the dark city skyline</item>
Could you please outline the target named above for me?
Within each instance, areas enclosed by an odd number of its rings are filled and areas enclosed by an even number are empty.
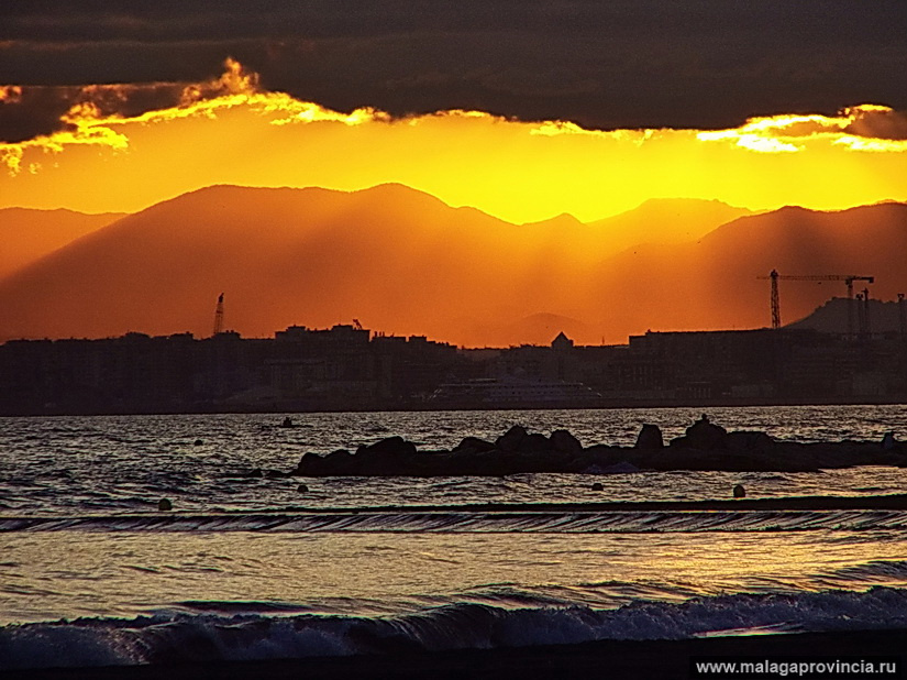
[[[512,224],[401,185],[214,186],[113,220],[0,278],[0,340],[207,336],[223,292],[226,327],[244,336],[357,318],[468,347],[547,343],[562,329],[597,344],[764,327],[756,277],[772,268],[873,275],[874,297],[907,288],[902,204],[752,215],[679,199]],[[783,318],[843,289],[782,282]]]

